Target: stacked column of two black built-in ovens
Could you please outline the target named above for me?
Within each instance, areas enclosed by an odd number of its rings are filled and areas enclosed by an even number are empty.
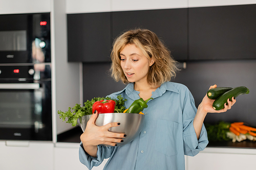
[[[50,13],[0,15],[0,140],[52,140]]]

